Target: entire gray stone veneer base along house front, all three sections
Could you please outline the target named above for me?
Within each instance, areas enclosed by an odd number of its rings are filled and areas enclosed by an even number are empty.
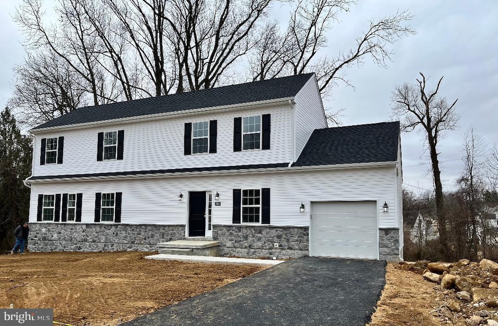
[[[399,261],[399,230],[379,229],[380,260]],[[185,225],[30,223],[29,251],[155,251],[185,239]],[[221,256],[297,258],[309,255],[308,226],[213,225]],[[274,246],[278,243],[278,247]]]

